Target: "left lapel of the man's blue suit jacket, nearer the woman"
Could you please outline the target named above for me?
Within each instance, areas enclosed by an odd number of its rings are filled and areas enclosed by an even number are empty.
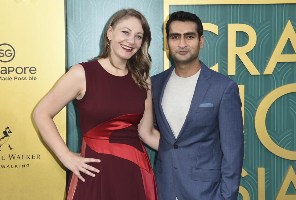
[[[167,69],[162,77],[162,79],[160,80],[159,82],[159,90],[158,90],[158,109],[160,111],[160,116],[162,118],[162,121],[163,121],[163,124],[164,126],[167,128],[167,131],[170,133],[170,135],[174,138],[175,140],[175,135],[173,134],[173,131],[169,125],[169,123],[167,122],[167,118],[166,116],[164,115],[163,113],[163,110],[162,110],[162,106],[161,106],[161,101],[162,101],[162,96],[163,96],[163,92],[164,92],[164,89],[166,88],[166,85],[167,85],[167,81],[169,80],[170,76],[171,76],[171,73],[173,71],[173,69],[175,68],[175,66]]]

